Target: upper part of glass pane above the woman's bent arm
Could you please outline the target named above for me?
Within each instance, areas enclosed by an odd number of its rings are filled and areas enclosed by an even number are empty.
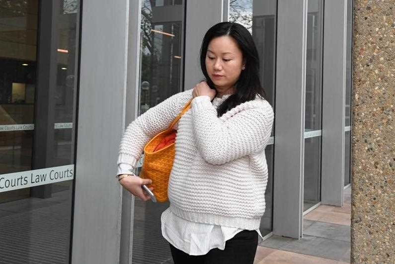
[[[180,1],[151,4],[144,0],[141,9],[139,115],[179,92],[181,86],[183,5]]]

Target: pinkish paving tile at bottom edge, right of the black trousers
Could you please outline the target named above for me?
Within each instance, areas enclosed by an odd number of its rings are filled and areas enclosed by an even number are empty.
[[[268,255],[258,264],[337,264],[338,261],[329,260],[304,254],[298,254],[293,252],[277,250],[272,254]]]

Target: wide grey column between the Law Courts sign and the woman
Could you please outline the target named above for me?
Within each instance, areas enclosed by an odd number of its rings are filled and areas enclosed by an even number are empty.
[[[128,0],[84,0],[73,253],[75,264],[119,262]]]

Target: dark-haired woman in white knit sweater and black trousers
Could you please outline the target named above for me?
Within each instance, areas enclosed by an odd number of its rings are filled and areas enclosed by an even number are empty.
[[[121,141],[118,176],[131,174],[145,144],[193,98],[191,109],[175,125],[170,207],[161,216],[162,235],[176,264],[253,263],[262,239],[264,149],[273,109],[259,81],[256,47],[242,25],[222,22],[211,27],[203,38],[200,64],[206,81],[129,124]],[[120,183],[150,199],[141,187],[150,179],[123,176]]]

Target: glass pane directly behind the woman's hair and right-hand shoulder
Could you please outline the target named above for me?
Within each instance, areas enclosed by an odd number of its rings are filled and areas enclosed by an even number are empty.
[[[252,34],[260,59],[260,81],[274,110],[277,0],[231,0],[229,21],[243,25]],[[274,136],[274,126],[271,135]],[[260,225],[263,236],[272,231],[274,145],[268,145],[265,152],[269,175],[265,191],[266,210]]]

